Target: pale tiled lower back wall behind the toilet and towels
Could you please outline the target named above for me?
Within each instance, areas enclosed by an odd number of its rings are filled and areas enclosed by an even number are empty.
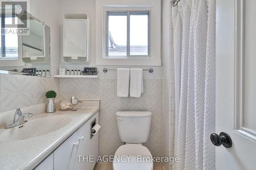
[[[117,111],[152,111],[152,124],[148,141],[144,143],[154,156],[162,156],[162,79],[144,79],[141,98],[119,98],[116,79],[60,79],[61,99],[100,99],[99,155],[114,155],[122,145],[119,138]]]

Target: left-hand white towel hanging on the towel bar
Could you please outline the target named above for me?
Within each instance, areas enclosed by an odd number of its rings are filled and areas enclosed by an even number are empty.
[[[117,96],[128,97],[130,83],[130,69],[118,68],[117,69]]]

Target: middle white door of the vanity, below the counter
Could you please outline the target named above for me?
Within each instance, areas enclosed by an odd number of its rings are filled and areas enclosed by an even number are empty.
[[[76,131],[54,151],[55,170],[78,170],[78,146],[80,134]]]

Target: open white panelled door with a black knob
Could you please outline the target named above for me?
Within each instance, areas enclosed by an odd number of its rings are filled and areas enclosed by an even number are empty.
[[[216,169],[256,169],[256,1],[216,3]]]

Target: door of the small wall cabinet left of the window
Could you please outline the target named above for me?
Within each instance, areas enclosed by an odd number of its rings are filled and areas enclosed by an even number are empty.
[[[63,56],[87,57],[87,19],[63,21]]]

